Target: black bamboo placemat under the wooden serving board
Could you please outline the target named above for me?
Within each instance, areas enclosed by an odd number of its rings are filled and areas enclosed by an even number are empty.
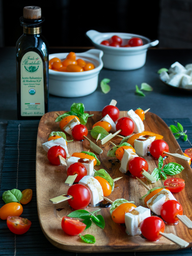
[[[167,125],[179,122],[183,125],[184,131],[187,130],[189,141],[192,142],[192,123],[188,118],[163,119]],[[7,135],[5,144],[5,158],[3,163],[1,189],[0,189],[0,207],[4,205],[2,194],[6,190],[17,188],[24,190],[30,188],[33,190],[33,197],[30,203],[23,205],[22,217],[32,222],[32,225],[23,235],[14,235],[9,231],[5,220],[0,219],[0,255],[14,256],[102,256],[104,253],[71,253],[63,251],[53,246],[43,235],[37,214],[36,202],[36,142],[39,121],[9,121],[7,125]],[[181,149],[192,147],[188,141],[178,139]],[[189,256],[191,249],[178,251],[155,251],[155,252],[128,252],[128,253],[105,253],[106,256],[129,256],[129,255],[178,255]]]

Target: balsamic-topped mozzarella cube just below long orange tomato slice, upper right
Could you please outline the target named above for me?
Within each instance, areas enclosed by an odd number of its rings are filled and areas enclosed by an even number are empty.
[[[154,140],[155,140],[155,136],[149,136],[149,135],[145,135],[143,137],[135,139],[134,141],[135,153],[139,157],[146,156],[148,152],[148,147],[151,144],[151,142]]]

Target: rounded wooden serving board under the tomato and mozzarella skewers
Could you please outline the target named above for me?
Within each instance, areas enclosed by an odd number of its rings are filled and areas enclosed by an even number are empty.
[[[64,111],[58,111],[57,114],[61,115],[65,113]],[[88,118],[86,124],[87,129],[91,129],[93,124],[101,119],[101,112],[87,112],[89,114],[94,114],[92,117]],[[79,236],[69,236],[65,234],[61,228],[62,217],[69,214],[72,209],[70,208],[67,201],[61,202],[59,204],[52,204],[49,199],[57,197],[62,194],[67,194],[69,186],[64,184],[67,174],[66,167],[51,165],[47,159],[47,153],[43,150],[42,143],[46,142],[49,134],[52,131],[60,131],[59,123],[55,123],[57,115],[55,112],[49,112],[43,115],[39,123],[38,135],[37,135],[37,167],[36,167],[36,181],[37,181],[37,208],[39,221],[43,230],[43,233],[47,239],[58,248],[73,252],[114,252],[117,251],[161,251],[161,250],[177,250],[179,246],[169,241],[168,239],[161,237],[159,241],[149,242],[142,236],[131,237],[126,234],[125,227],[116,224],[112,221],[109,208],[101,208],[99,214],[105,219],[105,229],[101,229],[92,223],[91,227],[83,232],[83,234],[94,235],[96,242],[95,244],[88,244],[83,242]],[[120,112],[120,117],[126,116],[126,111]],[[175,140],[173,134],[169,130],[166,123],[153,113],[146,113],[146,119],[144,120],[145,130],[152,131],[154,133],[162,134],[164,140],[169,145],[170,153],[180,153],[182,154],[181,148],[179,147],[177,141]],[[87,135],[92,141],[96,141],[90,135]],[[67,140],[72,139],[67,135]],[[112,141],[119,145],[121,138],[115,137]],[[90,147],[88,146],[88,141],[73,141],[69,142],[67,145],[69,154],[74,152],[88,151]],[[95,166],[96,170],[100,168],[105,169],[111,177],[117,178],[123,176],[122,179],[115,182],[114,191],[111,193],[109,198],[115,200],[117,198],[125,198],[128,201],[134,201],[135,205],[145,206],[144,198],[141,198],[147,193],[145,187],[143,187],[136,179],[131,178],[129,175],[122,174],[119,171],[120,163],[115,162],[116,158],[107,157],[107,151],[112,147],[110,142],[105,145],[99,145],[103,149],[101,155],[97,155],[98,159],[101,161],[100,166]],[[91,149],[90,149],[91,151]],[[91,151],[93,152],[93,151]],[[95,153],[95,152],[94,152]],[[111,165],[108,160],[112,159],[115,166]],[[153,171],[155,167],[158,166],[158,160],[153,157],[146,156],[145,159],[149,164],[149,173]],[[177,162],[181,164],[185,169],[178,175],[174,177],[180,177],[185,180],[185,188],[179,192],[174,193],[175,198],[182,203],[183,214],[187,215],[190,219],[192,218],[192,170],[188,162],[167,157],[163,164],[169,162]],[[167,175],[167,178],[171,176]],[[147,186],[152,187],[162,187],[164,180],[159,180],[156,183],[151,183],[145,178],[142,181],[146,182]],[[61,211],[57,211],[58,208],[64,208]],[[98,208],[98,207],[97,207]],[[87,207],[88,211],[93,211],[95,208]],[[150,230],[149,230],[150,232]],[[165,233],[173,233],[178,235],[178,237],[186,240],[192,246],[192,230],[188,230],[180,221],[178,225],[165,227]]]

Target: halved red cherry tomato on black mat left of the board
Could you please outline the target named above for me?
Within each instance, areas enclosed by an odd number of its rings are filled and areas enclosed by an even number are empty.
[[[28,219],[17,216],[9,216],[7,218],[7,227],[14,234],[22,235],[30,229],[30,226],[31,221]]]

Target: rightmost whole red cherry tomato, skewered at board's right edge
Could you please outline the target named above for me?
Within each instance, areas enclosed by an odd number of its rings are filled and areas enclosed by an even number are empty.
[[[175,223],[178,221],[176,215],[183,214],[182,205],[175,200],[168,200],[161,206],[161,217],[167,223]]]

